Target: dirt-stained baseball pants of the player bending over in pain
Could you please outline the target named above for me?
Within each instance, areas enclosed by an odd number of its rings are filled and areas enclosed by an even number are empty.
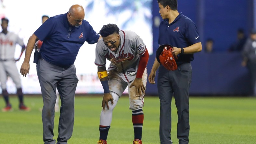
[[[112,105],[109,101],[109,109],[105,105],[105,110],[101,111],[100,114],[100,125],[101,126],[110,126],[112,121],[112,112],[115,108],[119,98],[122,96],[123,91],[128,87],[129,92],[129,100],[130,100],[130,110],[137,110],[143,107],[144,104],[144,94],[141,96],[136,95],[135,86],[130,88],[130,85],[133,83],[125,82],[122,80],[120,73],[118,71],[112,70],[108,73],[108,82],[109,82],[109,90],[110,94],[113,97],[114,104]],[[143,76],[142,76],[143,85],[146,88],[147,84],[147,69],[145,69]]]

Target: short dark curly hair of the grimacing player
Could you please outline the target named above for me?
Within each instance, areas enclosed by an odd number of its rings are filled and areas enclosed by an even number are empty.
[[[107,37],[111,34],[114,34],[114,33],[119,33],[119,28],[117,25],[115,24],[107,24],[107,25],[104,25],[101,30],[99,31],[99,34],[102,36],[102,37]]]

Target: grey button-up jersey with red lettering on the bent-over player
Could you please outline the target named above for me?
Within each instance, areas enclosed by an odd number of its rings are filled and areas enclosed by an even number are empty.
[[[95,65],[105,66],[106,59],[110,61],[108,72],[115,69],[121,74],[126,82],[135,79],[139,57],[146,52],[146,46],[143,40],[133,31],[119,30],[121,44],[117,52],[112,52],[100,39],[96,45]]]

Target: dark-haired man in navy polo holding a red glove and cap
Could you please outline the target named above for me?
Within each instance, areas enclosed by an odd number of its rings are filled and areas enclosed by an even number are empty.
[[[173,46],[173,55],[177,56],[177,70],[169,71],[158,61],[163,47],[156,51],[156,59],[148,80],[155,84],[158,71],[157,87],[160,99],[160,142],[172,144],[171,140],[171,102],[174,95],[178,110],[177,138],[179,144],[188,144],[189,135],[189,87],[192,79],[190,62],[193,54],[202,50],[200,37],[194,22],[177,11],[177,0],[158,0],[159,13],[163,20],[159,26],[160,45]]]

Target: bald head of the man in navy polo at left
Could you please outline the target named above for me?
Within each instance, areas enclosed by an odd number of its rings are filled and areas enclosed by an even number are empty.
[[[82,21],[84,19],[83,6],[81,5],[70,6],[67,17],[71,26],[78,27],[82,25]]]

